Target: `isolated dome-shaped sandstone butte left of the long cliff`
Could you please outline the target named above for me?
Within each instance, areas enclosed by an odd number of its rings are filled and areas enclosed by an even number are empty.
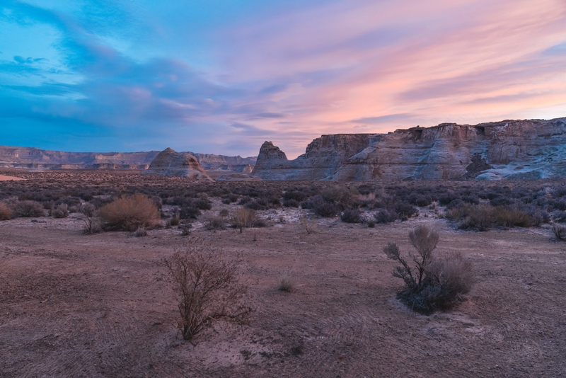
[[[142,174],[212,181],[195,156],[170,148],[161,151]]]

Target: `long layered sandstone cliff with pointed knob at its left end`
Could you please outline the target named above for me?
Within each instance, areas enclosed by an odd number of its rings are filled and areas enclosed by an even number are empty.
[[[336,181],[563,177],[566,118],[323,135],[291,161],[265,142],[253,176]]]

